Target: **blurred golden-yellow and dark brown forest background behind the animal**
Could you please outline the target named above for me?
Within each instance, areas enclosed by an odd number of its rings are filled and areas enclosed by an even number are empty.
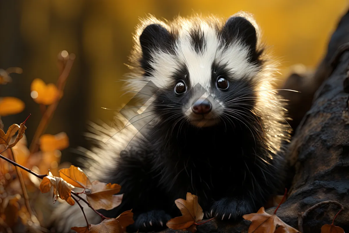
[[[229,17],[245,10],[253,13],[263,40],[282,61],[281,73],[304,64],[315,68],[347,0],[0,0],[0,68],[19,66],[13,82],[0,87],[0,96],[25,102],[25,110],[3,117],[5,129],[22,122],[29,113],[26,135],[29,143],[40,121],[39,105],[30,97],[35,78],[56,83],[57,54],[76,54],[64,97],[46,133],[66,132],[70,148],[88,147],[83,132],[88,120],[112,121],[113,111],[127,102],[118,80],[127,72],[132,33],[139,17],[150,13],[171,20],[192,13]],[[282,78],[282,75],[281,75]],[[62,161],[73,160],[72,150],[62,152]]]

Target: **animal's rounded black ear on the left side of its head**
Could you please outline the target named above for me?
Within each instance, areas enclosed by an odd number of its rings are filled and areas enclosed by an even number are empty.
[[[143,59],[151,58],[154,50],[163,50],[170,42],[170,32],[160,24],[150,24],[144,28],[139,41],[142,47]]]

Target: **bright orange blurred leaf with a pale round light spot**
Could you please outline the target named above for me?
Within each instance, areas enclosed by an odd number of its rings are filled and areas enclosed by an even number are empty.
[[[60,97],[60,93],[53,83],[46,85],[41,79],[34,79],[30,90],[30,96],[39,104],[50,105]]]

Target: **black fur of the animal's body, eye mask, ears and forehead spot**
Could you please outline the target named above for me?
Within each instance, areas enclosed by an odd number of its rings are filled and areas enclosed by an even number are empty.
[[[259,61],[261,51],[256,48],[256,31],[245,18],[230,18],[220,35],[225,43],[242,38],[250,48],[251,61]],[[170,51],[175,38],[158,24],[144,29],[140,44],[141,65],[146,75],[151,68],[150,51],[154,48]],[[200,53],[205,48],[201,32],[193,29],[191,38],[193,48]],[[234,73],[216,62],[211,70],[210,92],[216,99],[228,103],[242,96],[250,98],[240,100],[239,106],[225,106],[226,118],[222,117],[216,125],[197,128],[181,118],[183,114],[176,115],[197,91],[195,88],[200,88],[186,82],[187,92],[180,96],[174,93],[176,81],[189,78],[183,65],[173,74],[173,85],[156,93],[154,108],[161,118],[159,123],[148,129],[143,140],[131,141],[118,167],[106,171],[109,178],[104,182],[120,184],[124,197],[116,209],[101,212],[116,217],[133,209],[135,224],[129,226],[129,232],[165,228],[170,218],[181,215],[174,201],[185,198],[187,192],[199,197],[207,218],[234,221],[257,211],[269,195],[282,187],[282,159],[268,150],[262,126],[265,119],[251,114],[256,111],[254,90],[258,84],[248,78],[234,79]],[[220,75],[229,81],[227,90],[216,87]],[[239,116],[233,117],[230,110],[238,111]]]

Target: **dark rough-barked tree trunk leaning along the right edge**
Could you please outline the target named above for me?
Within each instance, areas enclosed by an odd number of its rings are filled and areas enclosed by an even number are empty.
[[[348,32],[349,12],[338,24],[314,75],[292,74],[284,83],[283,88],[302,94],[283,93],[290,100],[290,115],[295,118],[292,126],[297,128],[286,154],[295,175],[288,199],[276,215],[296,229],[298,213],[322,201],[337,201],[345,209],[334,224],[349,232],[349,112],[348,90],[344,90],[348,88],[343,87],[348,77],[349,50],[340,51],[341,45],[349,42]],[[270,208],[267,213],[274,210]],[[304,219],[304,233],[320,233],[321,226],[331,224],[339,210],[333,204],[314,209]],[[250,223],[241,220],[227,224],[214,219],[197,226],[197,233],[247,233]],[[183,233],[171,229],[163,232]]]

